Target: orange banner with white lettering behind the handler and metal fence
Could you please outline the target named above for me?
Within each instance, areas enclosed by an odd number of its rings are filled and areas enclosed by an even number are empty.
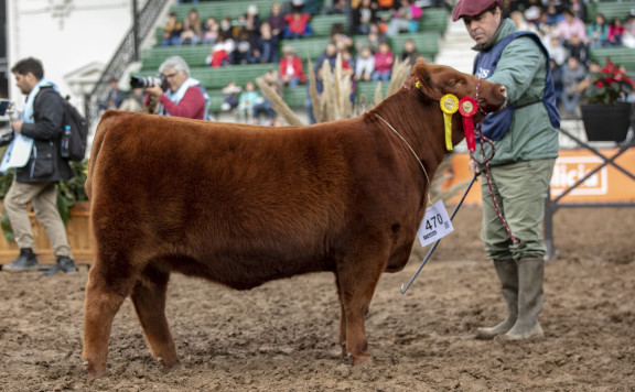
[[[618,149],[599,150],[607,159],[618,152]],[[467,168],[470,155],[467,153],[456,153],[452,159],[452,177],[446,181],[444,188],[453,184],[472,177]],[[604,161],[589,150],[561,150],[560,156],[556,160],[553,176],[551,177],[551,198],[558,197],[571,185],[575,184],[586,173],[602,165]],[[615,163],[625,171],[635,175],[635,149],[629,149],[622,153]],[[466,205],[481,204],[481,186],[478,177],[467,197]],[[461,193],[462,194],[462,193]],[[456,195],[448,204],[456,204],[461,197]],[[568,193],[560,203],[632,203],[635,202],[635,181],[609,164],[591,175],[585,182]]]

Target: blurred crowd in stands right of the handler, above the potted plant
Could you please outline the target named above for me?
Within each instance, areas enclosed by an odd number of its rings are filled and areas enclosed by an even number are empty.
[[[590,78],[602,65],[590,50],[605,46],[635,47],[635,10],[607,21],[602,13],[586,20],[582,0],[507,1],[506,14],[518,30],[537,33],[551,57],[553,84],[563,119],[579,118],[579,102]],[[623,68],[623,70],[626,70]]]

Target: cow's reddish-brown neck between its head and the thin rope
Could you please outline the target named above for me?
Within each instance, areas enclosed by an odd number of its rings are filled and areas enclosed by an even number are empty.
[[[386,98],[368,115],[386,120],[412,148],[419,161],[426,167],[430,179],[446,153],[443,139],[443,113],[439,102],[421,101],[411,89],[401,88]],[[389,128],[384,121],[375,119],[383,128]],[[406,148],[399,138],[394,138],[398,148]]]

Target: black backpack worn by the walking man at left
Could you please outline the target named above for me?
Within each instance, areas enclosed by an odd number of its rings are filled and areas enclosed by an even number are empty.
[[[62,130],[61,156],[67,161],[83,161],[86,156],[88,122],[68,101],[64,101],[64,122]]]

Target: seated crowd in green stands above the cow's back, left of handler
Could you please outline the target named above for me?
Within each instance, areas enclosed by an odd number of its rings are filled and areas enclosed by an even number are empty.
[[[411,64],[421,57],[412,41],[403,47],[390,47],[389,39],[401,32],[416,32],[424,8],[415,0],[354,0],[353,23],[347,30],[343,23],[331,26],[330,43],[314,62],[312,72],[321,90],[321,68],[324,62],[335,66],[337,54],[342,56],[342,68],[353,80],[352,99],[357,81],[389,81],[395,58],[410,58]],[[443,7],[445,1],[424,1],[427,7]],[[272,64],[279,86],[295,88],[308,83],[305,58],[294,53],[286,42],[303,40],[313,35],[311,19],[322,14],[345,14],[348,1],[292,0],[273,2],[267,18],[260,18],[257,6],[251,4],[239,18],[232,20],[220,15],[202,15],[195,4],[183,21],[175,13],[169,15],[163,29],[163,46],[211,45],[205,64],[223,67],[237,64]],[[204,20],[204,22],[202,21]],[[355,42],[355,36],[358,42]],[[271,75],[268,74],[268,77]],[[256,91],[255,86],[236,86],[228,83],[224,94],[224,109],[239,113],[240,120],[257,122],[265,112],[267,123],[272,123],[275,113],[270,102]],[[267,108],[258,105],[268,106]],[[272,115],[273,113],[273,115]]]

